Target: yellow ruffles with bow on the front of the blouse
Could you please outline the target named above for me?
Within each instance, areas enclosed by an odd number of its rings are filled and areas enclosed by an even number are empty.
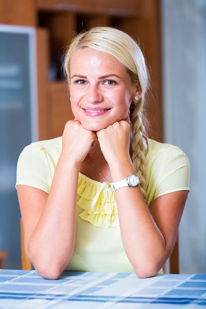
[[[115,192],[110,184],[97,182],[80,174],[77,205],[84,211],[81,219],[101,228],[119,226]]]

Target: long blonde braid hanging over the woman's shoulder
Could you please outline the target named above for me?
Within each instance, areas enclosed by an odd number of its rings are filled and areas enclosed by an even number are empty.
[[[145,167],[145,156],[148,151],[147,143],[144,138],[145,127],[142,122],[142,105],[143,98],[137,103],[132,102],[132,113],[131,113],[131,132],[133,136],[132,141],[132,161],[136,174],[140,180],[140,187],[143,196],[145,196],[146,189],[146,167]]]

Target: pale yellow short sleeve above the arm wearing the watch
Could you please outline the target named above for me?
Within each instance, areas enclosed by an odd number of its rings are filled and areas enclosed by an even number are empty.
[[[190,163],[177,146],[148,139],[146,155],[146,196],[148,206],[157,197],[176,191],[189,191]]]

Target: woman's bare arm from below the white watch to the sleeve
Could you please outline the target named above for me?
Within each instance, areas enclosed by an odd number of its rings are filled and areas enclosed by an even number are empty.
[[[137,275],[150,277],[172,252],[188,192],[162,195],[148,209],[138,188],[124,189],[116,196],[125,252]],[[125,193],[126,189],[138,193]]]

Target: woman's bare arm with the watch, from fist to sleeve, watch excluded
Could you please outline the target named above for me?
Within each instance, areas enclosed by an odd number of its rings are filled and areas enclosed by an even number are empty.
[[[135,173],[129,156],[130,130],[126,121],[97,132],[97,136],[113,182]],[[139,277],[155,275],[171,254],[187,194],[180,191],[162,195],[148,209],[139,186],[116,191],[124,249]]]

